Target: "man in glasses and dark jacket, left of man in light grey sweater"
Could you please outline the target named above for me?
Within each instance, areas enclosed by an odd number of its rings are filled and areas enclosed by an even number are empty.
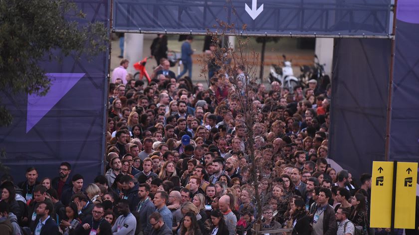
[[[103,208],[102,204],[95,204],[92,210],[92,214],[87,216],[75,231],[74,234],[77,235],[93,235],[97,234],[100,224],[108,223],[106,220],[103,219],[103,215],[105,214],[105,209]],[[104,226],[104,228],[109,228],[109,231],[100,231],[104,234],[112,234],[111,226]]]

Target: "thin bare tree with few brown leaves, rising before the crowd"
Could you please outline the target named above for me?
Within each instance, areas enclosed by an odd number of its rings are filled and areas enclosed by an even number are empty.
[[[258,79],[256,72],[259,61],[259,53],[253,49],[251,38],[248,36],[241,36],[235,29],[235,25],[226,24],[218,21],[217,30],[215,32],[208,31],[208,35],[212,36],[211,51],[208,51],[200,58],[201,62],[201,76],[204,76],[208,84],[216,86],[221,89],[228,89],[228,99],[235,100],[238,105],[236,108],[235,125],[242,125],[245,127],[245,154],[249,160],[250,179],[247,182],[251,185],[255,195],[255,208],[257,216],[255,218],[255,228],[260,228],[262,219],[262,207],[267,204],[267,198],[271,192],[264,192],[263,200],[260,192],[260,181],[263,178],[264,170],[268,168],[269,171],[273,168],[272,154],[273,149],[268,153],[258,148],[255,139],[260,137],[263,128],[269,123],[262,123],[259,120],[259,115],[263,111],[268,113],[272,105],[265,104],[262,107],[260,103],[260,94],[258,88],[260,86],[260,79]],[[241,31],[246,30],[246,25],[241,26]],[[219,43],[219,38],[225,34],[233,34],[236,36],[236,48],[222,47]],[[211,71],[212,70],[216,70]],[[214,74],[213,77],[209,77]],[[214,81],[216,80],[216,84]],[[211,88],[211,87],[210,87]],[[226,107],[223,105],[222,98],[213,99],[218,104],[218,112]],[[261,98],[263,100],[263,97]],[[260,130],[261,128],[262,130]],[[263,155],[267,156],[263,156]],[[270,156],[269,156],[270,154]],[[272,176],[272,175],[270,175]],[[258,229],[257,229],[258,230]]]

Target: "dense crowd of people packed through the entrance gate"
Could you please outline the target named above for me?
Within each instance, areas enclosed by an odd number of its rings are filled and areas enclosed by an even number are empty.
[[[114,76],[127,76],[128,64]],[[204,89],[169,69],[146,87],[112,78],[108,164],[94,182],[67,162],[40,181],[34,167],[21,183],[3,175],[0,234],[250,235],[257,224],[292,235],[389,234],[369,226],[371,175],[356,184],[329,165],[330,84],[255,85],[249,136],[248,93],[217,71]]]

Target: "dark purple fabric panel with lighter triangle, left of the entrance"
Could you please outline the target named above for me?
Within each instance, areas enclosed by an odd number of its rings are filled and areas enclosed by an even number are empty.
[[[109,27],[108,0],[76,3],[86,13],[80,25],[101,21]],[[62,56],[60,51],[55,53]],[[41,63],[60,81],[52,83],[45,97],[1,94],[14,117],[9,127],[0,128],[0,149],[6,153],[1,161],[11,168],[16,182],[24,180],[29,166],[39,170],[38,180],[58,176],[64,161],[72,165],[72,174],[82,174],[86,182],[103,172],[107,55],[104,51],[90,60],[81,55],[80,60],[69,56],[62,63]]]

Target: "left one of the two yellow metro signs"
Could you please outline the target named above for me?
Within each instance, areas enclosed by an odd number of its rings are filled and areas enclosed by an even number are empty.
[[[371,228],[391,227],[393,165],[393,162],[373,162],[370,217]]]

